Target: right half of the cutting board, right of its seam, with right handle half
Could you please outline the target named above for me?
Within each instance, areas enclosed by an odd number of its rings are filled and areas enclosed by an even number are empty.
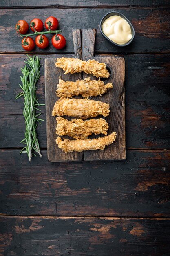
[[[105,117],[109,124],[108,134],[117,132],[116,141],[106,146],[104,150],[84,151],[84,160],[123,160],[126,158],[125,151],[125,94],[124,94],[124,58],[114,56],[94,57],[95,29],[82,29],[82,58],[85,61],[95,59],[104,62],[109,68],[110,77],[104,79],[105,83],[113,83],[113,89],[108,90],[106,94],[97,97],[91,97],[93,100],[109,103],[110,114]],[[93,75],[83,73],[83,79]],[[96,117],[97,118],[97,117]],[[96,136],[92,135],[91,138]],[[97,136],[101,137],[101,135]]]

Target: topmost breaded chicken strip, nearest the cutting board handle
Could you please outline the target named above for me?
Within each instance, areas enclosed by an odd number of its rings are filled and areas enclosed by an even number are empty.
[[[55,63],[56,67],[62,68],[65,73],[80,73],[84,71],[87,74],[93,74],[96,77],[106,77],[110,76],[108,70],[106,69],[105,63],[99,63],[95,60],[81,61],[78,58],[57,58]]]

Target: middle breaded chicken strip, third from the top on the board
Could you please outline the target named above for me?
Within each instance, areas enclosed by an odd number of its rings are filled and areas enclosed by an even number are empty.
[[[109,104],[102,101],[61,98],[55,102],[52,115],[58,117],[66,115],[87,119],[89,117],[97,117],[97,115],[106,117],[109,112]]]

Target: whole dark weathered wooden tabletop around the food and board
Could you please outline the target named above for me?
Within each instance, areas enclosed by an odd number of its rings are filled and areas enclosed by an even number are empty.
[[[0,256],[170,255],[170,2],[169,0],[0,1]],[[109,11],[132,22],[135,39],[116,47],[99,32]],[[51,45],[42,58],[38,98],[44,96],[44,58],[73,54],[72,29],[97,29],[95,54],[124,56],[124,162],[50,163],[46,123],[38,126],[42,159],[19,155],[24,136],[15,24],[56,16],[64,51]],[[45,107],[42,107],[42,118]]]

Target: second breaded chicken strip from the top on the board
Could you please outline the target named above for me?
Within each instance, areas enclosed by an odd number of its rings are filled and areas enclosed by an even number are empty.
[[[91,97],[102,95],[107,92],[108,88],[113,88],[112,83],[104,84],[103,81],[91,80],[90,77],[75,82],[64,81],[59,78],[56,94],[58,97],[72,98],[74,95],[82,95],[83,97]]]

